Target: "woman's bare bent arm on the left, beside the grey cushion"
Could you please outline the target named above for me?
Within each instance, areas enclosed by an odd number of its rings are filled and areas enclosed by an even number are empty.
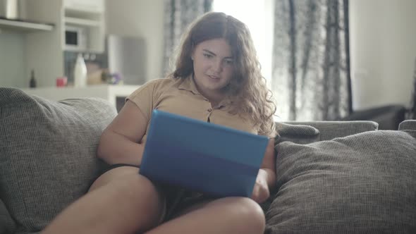
[[[127,101],[120,113],[104,130],[97,156],[107,164],[139,166],[144,146],[139,144],[146,133],[147,119],[133,101]]]

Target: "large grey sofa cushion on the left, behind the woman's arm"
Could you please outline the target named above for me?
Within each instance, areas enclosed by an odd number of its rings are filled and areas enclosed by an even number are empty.
[[[0,89],[0,199],[18,232],[42,230],[99,174],[102,131],[116,116],[102,99],[49,101]]]

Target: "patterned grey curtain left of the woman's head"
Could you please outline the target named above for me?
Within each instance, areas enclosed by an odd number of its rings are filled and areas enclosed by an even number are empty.
[[[164,74],[171,71],[170,59],[181,42],[181,35],[193,20],[212,10],[212,1],[164,1]]]

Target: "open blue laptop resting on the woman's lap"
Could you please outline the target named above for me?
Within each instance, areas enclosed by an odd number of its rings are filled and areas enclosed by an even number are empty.
[[[267,142],[265,136],[154,110],[140,174],[218,197],[251,197]]]

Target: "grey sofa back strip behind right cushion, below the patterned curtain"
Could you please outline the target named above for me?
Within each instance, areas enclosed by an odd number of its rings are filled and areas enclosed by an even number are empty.
[[[379,124],[373,121],[288,121],[293,125],[310,125],[317,128],[320,140],[332,140],[336,137],[346,137],[357,133],[377,130]]]

